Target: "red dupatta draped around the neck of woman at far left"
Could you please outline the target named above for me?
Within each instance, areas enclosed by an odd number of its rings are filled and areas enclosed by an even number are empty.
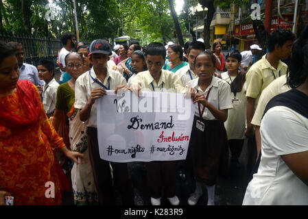
[[[27,116],[16,114],[9,107],[1,105],[0,125],[10,129],[34,125],[38,122],[40,116],[40,99],[31,81],[19,80],[16,88],[21,106]]]

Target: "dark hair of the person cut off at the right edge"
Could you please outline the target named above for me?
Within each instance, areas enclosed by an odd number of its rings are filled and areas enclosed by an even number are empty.
[[[294,42],[287,83],[291,88],[297,88],[308,78],[308,25]]]

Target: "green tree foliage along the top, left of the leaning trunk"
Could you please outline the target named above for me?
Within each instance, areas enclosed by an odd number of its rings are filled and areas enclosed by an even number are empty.
[[[45,18],[51,12],[49,3],[56,6],[51,20]],[[122,34],[143,38],[144,43],[174,38],[167,0],[76,0],[76,10],[80,40]],[[0,31],[54,38],[75,32],[73,0],[1,0],[0,12]]]

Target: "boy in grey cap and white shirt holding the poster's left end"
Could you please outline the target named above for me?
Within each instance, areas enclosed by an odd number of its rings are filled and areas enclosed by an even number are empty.
[[[113,169],[115,185],[122,195],[124,205],[134,205],[132,182],[128,175],[127,164],[111,163],[99,157],[97,140],[97,108],[95,100],[104,98],[106,90],[126,86],[126,79],[115,70],[107,67],[110,44],[106,40],[93,40],[90,45],[90,60],[93,68],[80,75],[75,85],[75,108],[80,109],[80,120],[86,123],[88,150],[100,205],[115,205],[114,189],[110,172]]]

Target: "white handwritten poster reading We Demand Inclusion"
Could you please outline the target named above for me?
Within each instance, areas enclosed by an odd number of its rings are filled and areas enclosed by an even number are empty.
[[[194,109],[185,94],[107,91],[97,99],[99,155],[120,163],[186,159]]]

